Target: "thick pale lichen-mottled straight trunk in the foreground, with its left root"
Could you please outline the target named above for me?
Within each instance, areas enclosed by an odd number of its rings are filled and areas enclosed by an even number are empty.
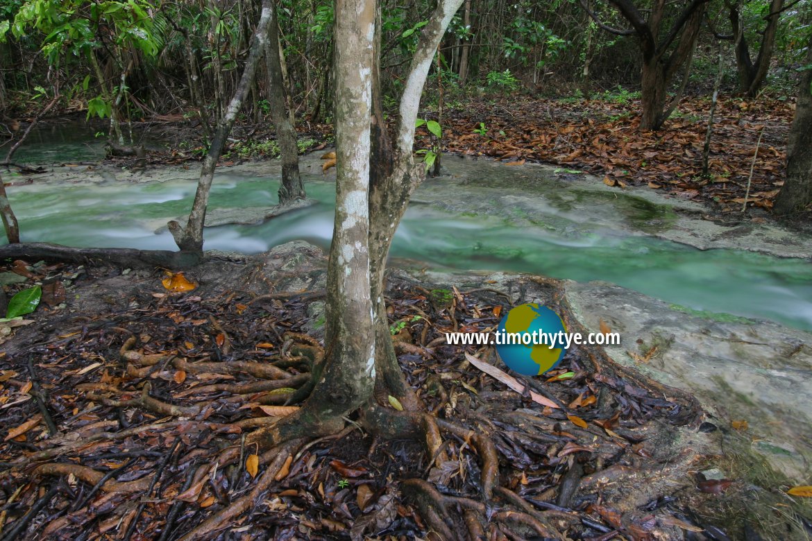
[[[335,0],[335,225],[327,268],[325,359],[300,410],[248,436],[270,447],[338,432],[372,397],[375,333],[369,286],[369,150],[375,0]]]

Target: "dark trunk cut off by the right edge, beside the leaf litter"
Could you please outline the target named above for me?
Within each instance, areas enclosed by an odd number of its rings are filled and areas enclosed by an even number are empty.
[[[806,49],[806,66],[812,64],[812,39]],[[812,203],[812,70],[801,73],[801,91],[795,106],[787,144],[787,178],[775,198],[776,214],[790,214]]]

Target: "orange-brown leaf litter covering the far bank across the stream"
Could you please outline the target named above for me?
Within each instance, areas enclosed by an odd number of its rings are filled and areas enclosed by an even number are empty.
[[[702,150],[711,101],[686,97],[660,131],[641,131],[640,101],[625,94],[610,99],[534,99],[526,96],[479,97],[448,101],[443,118],[443,152],[493,157],[508,163],[539,161],[568,170],[584,170],[609,186],[648,186],[663,193],[711,204],[720,215],[748,207],[769,210],[784,183],[786,144],[794,104],[767,97],[745,100],[719,97],[709,154],[709,174],[702,175]],[[154,152],[153,163],[178,163],[201,157],[201,130],[166,117],[164,135],[171,150]],[[438,119],[436,107],[421,118]],[[308,149],[332,143],[330,124],[299,122]],[[239,144],[222,163],[266,157],[261,144],[269,127],[245,122],[235,127]],[[183,142],[183,143],[182,143]],[[435,143],[426,127],[417,130],[416,149]],[[182,148],[183,147],[183,148]],[[242,153],[240,152],[242,148]],[[757,152],[758,150],[758,152]],[[252,153],[253,152],[253,153]],[[751,174],[752,170],[752,174]],[[802,225],[804,217],[794,217]],[[767,213],[756,213],[757,217]]]

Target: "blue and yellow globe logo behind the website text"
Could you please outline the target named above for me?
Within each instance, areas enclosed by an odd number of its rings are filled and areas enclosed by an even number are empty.
[[[538,303],[521,304],[509,311],[499,321],[499,337],[496,351],[503,363],[523,376],[538,376],[555,368],[564,359],[567,352],[564,345],[555,342],[551,348],[541,340],[530,341],[533,337],[550,337],[557,333],[566,333],[564,321],[555,311]],[[506,333],[520,333],[521,339],[506,340]],[[500,343],[502,342],[502,343]],[[559,347],[558,347],[559,346]]]

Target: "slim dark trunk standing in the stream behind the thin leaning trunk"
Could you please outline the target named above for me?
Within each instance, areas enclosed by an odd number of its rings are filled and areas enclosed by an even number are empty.
[[[299,174],[299,148],[296,146],[296,130],[287,115],[285,87],[282,76],[282,60],[279,58],[279,29],[276,25],[276,6],[273,20],[268,27],[268,43],[265,53],[268,71],[268,103],[270,118],[276,129],[276,140],[282,154],[282,183],[279,185],[279,204],[304,199],[304,184]]]

